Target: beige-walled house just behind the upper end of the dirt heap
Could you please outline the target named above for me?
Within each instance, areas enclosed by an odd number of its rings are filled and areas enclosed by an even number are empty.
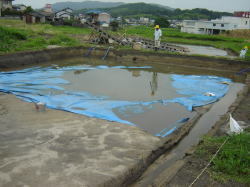
[[[111,22],[110,14],[106,12],[102,12],[99,10],[90,10],[86,12],[87,20],[91,21],[92,23],[99,23],[102,25],[109,25]]]

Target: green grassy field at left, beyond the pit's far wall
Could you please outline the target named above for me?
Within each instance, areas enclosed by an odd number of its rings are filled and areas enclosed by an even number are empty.
[[[49,45],[81,46],[79,36],[91,32],[88,28],[28,25],[21,20],[0,20],[0,54],[45,49]]]

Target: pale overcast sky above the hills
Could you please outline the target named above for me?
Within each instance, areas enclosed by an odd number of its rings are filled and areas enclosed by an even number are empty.
[[[56,2],[82,2],[84,0],[15,0],[14,4],[30,5],[33,8],[42,8],[46,3]],[[239,11],[250,10],[250,0],[99,0],[103,2],[145,2],[145,3],[158,3],[172,8],[192,9],[192,8],[207,8],[216,11]]]

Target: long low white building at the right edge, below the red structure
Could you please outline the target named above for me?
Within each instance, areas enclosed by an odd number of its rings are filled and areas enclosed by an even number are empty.
[[[185,20],[181,32],[195,34],[219,34],[235,29],[250,29],[250,18],[223,16],[211,21]]]

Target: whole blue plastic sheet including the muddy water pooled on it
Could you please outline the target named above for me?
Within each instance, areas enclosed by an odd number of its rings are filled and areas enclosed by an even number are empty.
[[[194,117],[192,107],[223,97],[228,85],[222,82],[234,84],[223,77],[166,73],[150,66],[104,65],[2,72],[0,80],[0,91],[22,100],[135,125],[161,137]],[[215,96],[204,95],[209,91]]]

